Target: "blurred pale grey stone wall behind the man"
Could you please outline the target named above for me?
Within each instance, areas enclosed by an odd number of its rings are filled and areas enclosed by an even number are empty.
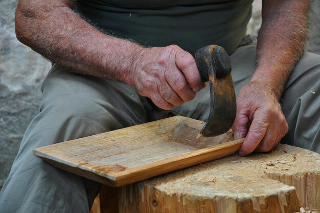
[[[307,51],[320,54],[320,1],[311,0]],[[41,82],[51,62],[15,37],[17,0],[0,0],[0,189],[18,152],[28,124],[39,111]],[[247,34],[257,36],[261,0],[255,0]]]

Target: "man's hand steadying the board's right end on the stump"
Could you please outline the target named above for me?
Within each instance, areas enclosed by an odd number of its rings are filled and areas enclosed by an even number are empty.
[[[251,123],[247,130],[247,124]],[[271,90],[262,83],[246,84],[237,96],[237,115],[232,127],[235,139],[246,136],[240,156],[268,152],[288,132],[288,123]]]

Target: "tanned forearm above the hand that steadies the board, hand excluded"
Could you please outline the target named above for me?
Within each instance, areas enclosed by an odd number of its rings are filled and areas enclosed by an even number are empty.
[[[257,69],[252,82],[265,83],[280,99],[285,82],[304,51],[309,1],[263,1]]]

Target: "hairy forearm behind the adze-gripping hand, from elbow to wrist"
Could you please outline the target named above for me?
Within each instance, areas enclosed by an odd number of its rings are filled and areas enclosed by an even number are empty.
[[[131,63],[141,47],[101,33],[70,6],[67,0],[20,0],[16,11],[17,38],[75,72],[128,81]]]

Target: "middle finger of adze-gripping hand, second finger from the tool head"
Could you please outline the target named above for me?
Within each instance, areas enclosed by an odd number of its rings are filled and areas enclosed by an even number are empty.
[[[195,97],[195,93],[189,87],[187,79],[180,70],[173,69],[171,71],[167,71],[165,78],[172,90],[182,100],[189,101]]]

